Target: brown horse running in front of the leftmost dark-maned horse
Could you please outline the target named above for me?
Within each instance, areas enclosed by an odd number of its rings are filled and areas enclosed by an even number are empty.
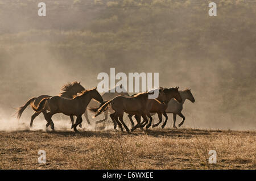
[[[82,114],[84,114],[86,107],[92,99],[95,99],[100,103],[103,102],[100,93],[97,91],[97,87],[91,90],[84,90],[80,95],[74,96],[73,99],[67,99],[61,96],[44,98],[40,101],[38,107],[34,106],[34,110],[43,112],[44,118],[47,120],[46,127],[51,124],[52,130],[54,130],[52,116],[56,113],[64,113],[64,115],[76,116],[76,123],[72,124],[71,128],[74,128],[74,131],[77,132],[76,127],[82,123]],[[46,110],[49,110],[49,112],[47,113]]]

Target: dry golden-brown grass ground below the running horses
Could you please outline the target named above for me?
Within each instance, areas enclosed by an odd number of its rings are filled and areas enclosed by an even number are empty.
[[[0,132],[0,169],[256,169],[255,141],[256,132],[201,129]]]

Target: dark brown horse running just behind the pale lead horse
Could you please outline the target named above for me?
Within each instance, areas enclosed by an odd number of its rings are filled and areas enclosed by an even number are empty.
[[[183,99],[179,94],[179,87],[170,88],[170,89],[160,87],[158,98],[147,100],[147,107],[150,110],[147,116],[150,118],[150,123],[148,123],[148,125],[146,126],[146,129],[148,129],[152,124],[152,117],[150,113],[158,113],[158,118],[159,118],[158,124],[162,122],[162,115],[164,115],[166,120],[168,120],[166,109],[167,109],[168,102],[170,102],[172,98],[175,98],[180,103],[182,102]],[[132,120],[132,116],[133,115],[131,114],[128,115],[131,121],[131,125],[133,126],[134,123]],[[138,115],[135,115],[135,119],[137,120],[137,122],[140,122],[140,117],[138,117]],[[143,128],[146,124],[147,123],[144,123],[141,128]]]

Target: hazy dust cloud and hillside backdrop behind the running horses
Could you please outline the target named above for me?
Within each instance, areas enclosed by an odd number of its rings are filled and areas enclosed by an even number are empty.
[[[90,89],[110,68],[158,72],[160,86],[191,89],[185,128],[255,130],[255,3],[216,1],[210,17],[207,1],[44,2],[39,17],[38,1],[0,0],[0,131],[30,129],[31,108],[19,121],[14,115],[28,99],[72,81]],[[67,116],[53,122],[71,130]],[[40,115],[32,129],[45,124]]]

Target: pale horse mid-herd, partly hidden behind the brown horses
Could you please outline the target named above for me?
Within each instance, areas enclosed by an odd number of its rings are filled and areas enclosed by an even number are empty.
[[[122,84],[121,84],[119,87],[120,87],[120,89],[122,89],[122,87],[123,87]],[[127,91],[117,92],[117,91],[116,91],[116,88],[117,88],[117,87],[114,87],[114,89],[115,89],[114,92],[112,92],[112,90],[109,90],[108,92],[105,92],[104,94],[102,94],[101,96],[102,96],[103,100],[110,100],[110,99],[115,98],[115,97],[118,96],[118,95],[126,95],[126,96],[129,96],[129,94],[127,93]],[[89,105],[88,105],[88,108],[96,108],[96,107],[99,107],[99,103],[98,103],[97,101],[95,101],[95,100],[92,99],[92,100],[90,101]],[[108,112],[113,113],[113,110],[109,108],[107,111],[105,111],[105,112],[104,112],[105,118],[102,119],[102,120],[100,120],[100,121],[96,121],[96,124],[102,123],[102,122],[104,122],[105,120],[107,120],[107,119],[108,119]],[[85,116],[86,121],[90,124],[90,121],[89,121],[89,118],[88,118],[88,111],[87,111],[87,110],[85,111],[84,116]]]

